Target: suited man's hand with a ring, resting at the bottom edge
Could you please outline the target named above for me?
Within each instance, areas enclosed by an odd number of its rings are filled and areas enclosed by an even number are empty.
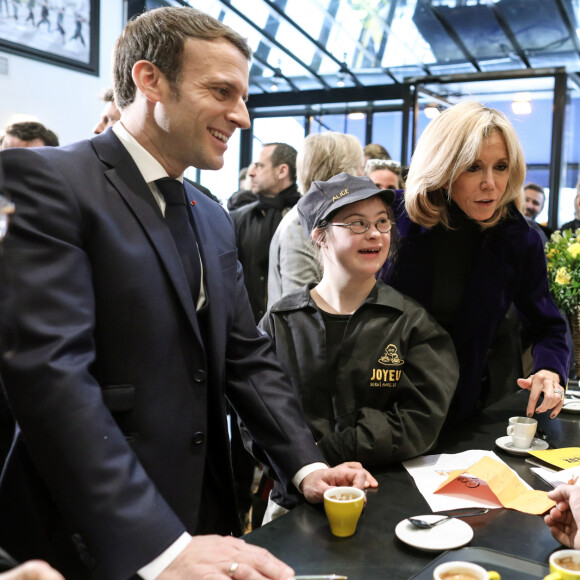
[[[264,548],[232,536],[193,536],[159,580],[290,580],[294,570]]]

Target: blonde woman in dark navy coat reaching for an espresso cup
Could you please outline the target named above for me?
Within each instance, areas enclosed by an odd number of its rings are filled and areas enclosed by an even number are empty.
[[[461,375],[451,421],[481,407],[488,351],[512,303],[534,343],[533,374],[517,381],[530,391],[522,412],[554,418],[562,409],[566,330],[549,294],[542,243],[520,213],[525,171],[507,118],[464,102],[424,131],[404,202],[395,202],[401,245],[380,277],[421,303],[453,338]]]

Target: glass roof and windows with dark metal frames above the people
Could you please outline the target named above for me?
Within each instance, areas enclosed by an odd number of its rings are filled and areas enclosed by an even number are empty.
[[[402,112],[403,164],[428,103],[549,95],[555,223],[564,109],[580,93],[580,0],[146,1],[188,3],[248,38],[253,119],[302,116],[308,134],[311,119],[363,112],[369,142],[375,113]],[[241,134],[240,166],[252,146],[253,128]]]

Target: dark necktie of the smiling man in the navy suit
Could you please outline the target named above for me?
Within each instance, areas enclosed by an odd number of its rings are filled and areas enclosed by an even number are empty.
[[[196,304],[201,286],[201,263],[197,240],[189,221],[185,188],[180,181],[169,177],[157,179],[155,183],[165,199],[165,221],[177,246],[193,302]]]

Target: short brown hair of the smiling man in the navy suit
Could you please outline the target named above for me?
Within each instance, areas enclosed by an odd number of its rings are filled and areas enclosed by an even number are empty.
[[[131,75],[140,60],[153,63],[169,82],[171,94],[179,98],[185,41],[227,40],[250,60],[246,39],[209,14],[188,6],[156,8],[129,21],[119,36],[113,55],[115,100],[124,109],[135,100]]]

